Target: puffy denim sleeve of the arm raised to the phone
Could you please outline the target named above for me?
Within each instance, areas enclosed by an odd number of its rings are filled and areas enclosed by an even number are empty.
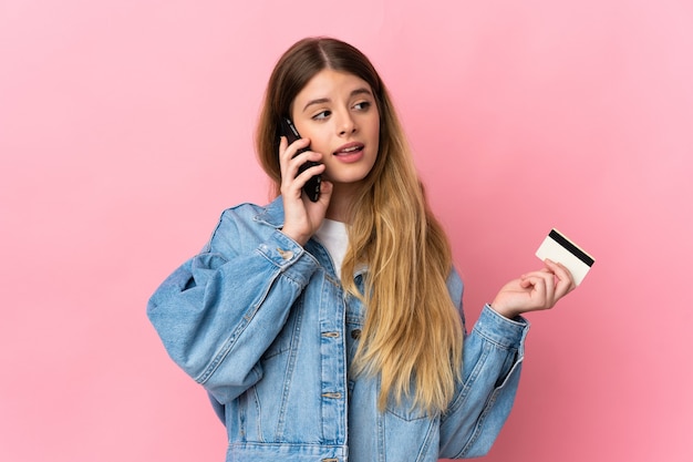
[[[204,251],[166,278],[147,305],[168,355],[219,403],[260,380],[260,357],[318,268],[281,232],[258,242],[241,226],[225,212]]]

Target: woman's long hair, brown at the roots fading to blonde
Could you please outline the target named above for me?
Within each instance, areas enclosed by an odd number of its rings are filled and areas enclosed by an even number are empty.
[[[380,114],[380,151],[365,185],[351,204],[349,250],[342,264],[344,289],[366,307],[354,373],[380,374],[379,408],[411,397],[430,413],[443,412],[462,373],[462,322],[447,291],[452,251],[431,212],[411,150],[380,75],[354,47],[330,38],[297,42],[277,63],[265,95],[256,145],[273,183],[279,168],[280,116],[323,69],[366,81]],[[354,283],[366,264],[364,292]]]

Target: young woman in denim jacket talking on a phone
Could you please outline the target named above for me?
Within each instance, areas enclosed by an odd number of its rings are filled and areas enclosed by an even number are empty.
[[[280,136],[282,117],[301,140]],[[466,335],[463,285],[387,91],[344,42],[304,39],[281,57],[257,150],[277,198],[225,211],[147,307],[226,424],[227,461],[486,453],[519,380],[519,315],[572,290],[567,269],[547,260],[508,283]],[[302,188],[317,175],[313,202]]]

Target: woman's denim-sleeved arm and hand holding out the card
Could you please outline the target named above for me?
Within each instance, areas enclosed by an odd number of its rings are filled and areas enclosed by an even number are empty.
[[[519,315],[552,308],[575,289],[567,268],[550,260],[545,264],[506,284],[465,338],[463,382],[441,420],[442,458],[486,454],[508,418],[529,330]]]

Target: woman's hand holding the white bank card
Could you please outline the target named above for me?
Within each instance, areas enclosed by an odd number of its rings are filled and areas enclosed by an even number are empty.
[[[576,288],[568,268],[548,258],[544,263],[545,268],[506,284],[490,304],[492,308],[513,319],[523,312],[552,308]]]

